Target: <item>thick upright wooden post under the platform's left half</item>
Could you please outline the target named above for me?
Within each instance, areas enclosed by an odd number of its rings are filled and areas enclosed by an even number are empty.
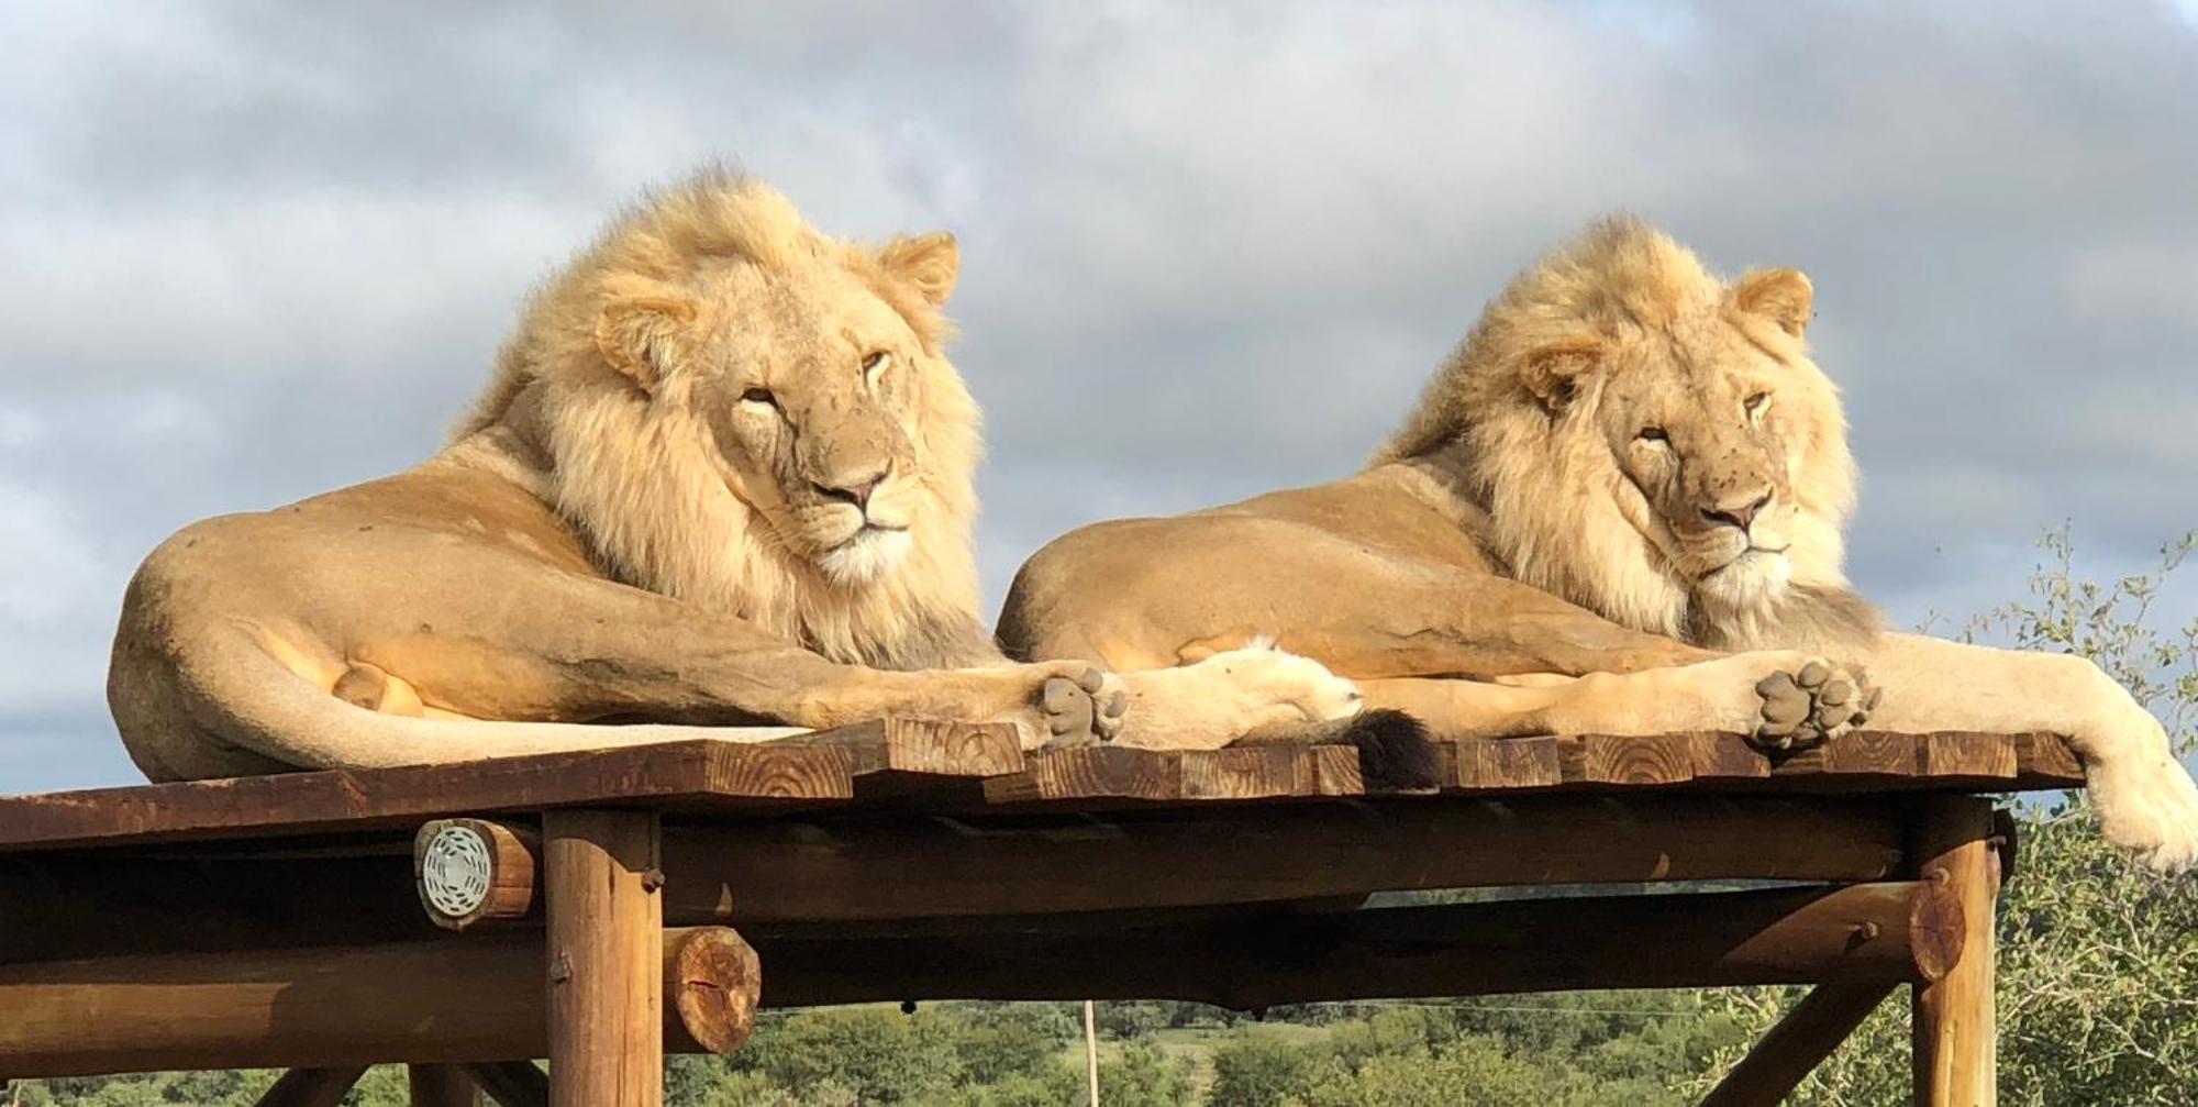
[[[653,810],[543,813],[552,1107],[664,1105],[664,901]]]

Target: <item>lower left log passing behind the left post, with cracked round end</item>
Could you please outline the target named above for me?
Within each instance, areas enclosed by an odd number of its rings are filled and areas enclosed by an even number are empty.
[[[668,1006],[659,1030],[666,1048],[710,1052],[703,1041],[747,1037],[739,1019],[754,1010],[758,980],[752,964],[719,955],[725,938],[714,929],[666,931],[655,971],[666,993],[692,997]],[[690,951],[695,942],[706,942],[701,953]],[[0,964],[0,1072],[543,1056],[543,964],[541,931]],[[721,969],[725,975],[712,975]]]

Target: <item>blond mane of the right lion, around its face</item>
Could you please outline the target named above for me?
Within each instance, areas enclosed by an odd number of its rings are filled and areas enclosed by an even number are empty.
[[[1725,650],[1853,655],[1879,630],[1879,617],[1842,569],[1842,527],[1855,505],[1846,415],[1800,336],[1807,301],[1780,329],[1765,305],[1736,303],[1750,277],[1728,283],[1710,275],[1692,250],[1631,215],[1598,220],[1488,305],[1372,463],[1431,466],[1481,516],[1479,536],[1508,575],[1611,622]],[[1739,606],[1703,595],[1627,518],[1616,499],[1618,461],[1591,417],[1611,376],[1648,389],[1677,380],[1686,371],[1677,358],[1697,345],[1690,336],[1717,325],[1791,369],[1780,404],[1802,424],[1785,444],[1800,505],[1791,578]],[[1609,369],[1565,376],[1589,347],[1611,351]],[[1547,404],[1552,376],[1565,389],[1563,413]]]

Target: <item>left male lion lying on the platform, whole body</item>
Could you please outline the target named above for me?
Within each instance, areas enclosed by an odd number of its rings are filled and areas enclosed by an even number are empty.
[[[831,239],[721,171],[651,198],[534,294],[431,461],[145,560],[108,674],[130,756],[189,780],[890,712],[1033,747],[1114,738],[1125,705],[1145,745],[1222,745],[1354,714],[1275,650],[1130,681],[998,652],[956,275],[950,235]]]

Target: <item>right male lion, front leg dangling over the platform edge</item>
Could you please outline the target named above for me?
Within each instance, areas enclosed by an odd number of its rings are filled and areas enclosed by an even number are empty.
[[[1855,466],[1811,299],[1796,270],[1723,283],[1598,222],[1488,308],[1363,472],[1075,532],[1018,573],[1000,641],[1147,668],[1273,633],[1451,734],[2060,731],[2106,837],[2189,868],[2198,789],[2114,681],[1884,633],[1849,591]]]

